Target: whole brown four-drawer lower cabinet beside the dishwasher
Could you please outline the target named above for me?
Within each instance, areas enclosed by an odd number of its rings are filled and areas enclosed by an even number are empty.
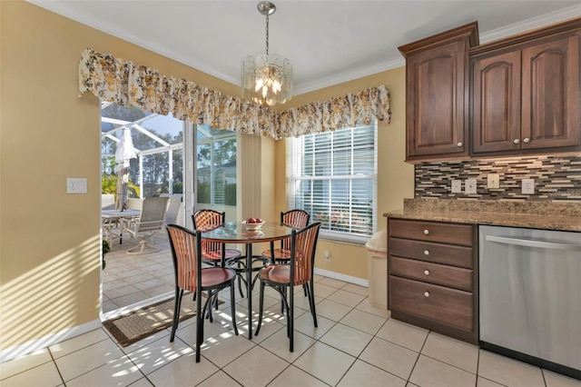
[[[478,344],[478,228],[388,219],[391,317]]]

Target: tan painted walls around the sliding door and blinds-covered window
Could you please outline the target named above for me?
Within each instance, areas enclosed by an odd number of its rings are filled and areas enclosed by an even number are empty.
[[[225,94],[239,93],[238,85],[36,5],[0,1],[2,350],[99,318],[100,106],[91,94],[77,96],[77,65],[87,47]],[[388,86],[393,118],[391,124],[379,124],[379,213],[399,207],[403,197],[413,194],[413,169],[402,162],[403,76],[401,68],[291,101],[301,104]],[[278,216],[286,208],[284,142],[262,143],[261,172],[270,175],[262,176],[261,193],[268,197],[269,187],[275,187],[276,200],[265,200],[261,210],[275,208],[268,216]],[[88,193],[67,194],[67,177],[86,177]],[[385,227],[383,218],[379,225]],[[325,249],[331,262],[318,256],[320,268],[367,278],[364,248],[321,241],[319,252]]]

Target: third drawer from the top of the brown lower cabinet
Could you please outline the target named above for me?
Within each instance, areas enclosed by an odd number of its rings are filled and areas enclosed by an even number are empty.
[[[472,292],[472,271],[445,264],[390,257],[389,273]]]

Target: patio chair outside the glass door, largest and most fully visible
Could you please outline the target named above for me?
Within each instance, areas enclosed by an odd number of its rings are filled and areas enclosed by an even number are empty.
[[[154,253],[159,249],[153,244],[153,236],[163,230],[165,213],[167,211],[167,197],[146,197],[143,199],[142,213],[133,219],[121,220],[121,234],[130,233],[133,237],[141,236],[139,243],[127,250],[128,254]],[[147,243],[147,240],[151,241]]]

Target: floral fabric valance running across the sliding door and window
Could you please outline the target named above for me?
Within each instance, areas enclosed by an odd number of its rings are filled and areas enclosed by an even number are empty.
[[[369,124],[373,118],[389,123],[391,114],[385,85],[277,112],[91,48],[79,63],[79,95],[86,91],[121,106],[274,139]]]

